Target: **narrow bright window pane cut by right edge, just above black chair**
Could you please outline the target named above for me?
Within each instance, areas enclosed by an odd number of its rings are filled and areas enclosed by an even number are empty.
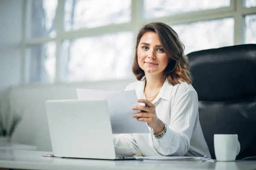
[[[256,44],[256,14],[246,15],[244,21],[244,43]]]

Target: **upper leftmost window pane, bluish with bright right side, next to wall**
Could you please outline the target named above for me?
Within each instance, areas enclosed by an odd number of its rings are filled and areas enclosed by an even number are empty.
[[[29,0],[27,38],[55,37],[58,0]]]

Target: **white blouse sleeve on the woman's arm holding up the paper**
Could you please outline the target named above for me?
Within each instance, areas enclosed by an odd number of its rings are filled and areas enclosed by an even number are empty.
[[[162,138],[154,136],[153,143],[161,155],[184,156],[189,150],[189,142],[198,115],[198,96],[196,91],[177,91],[181,93],[174,100],[170,125]]]

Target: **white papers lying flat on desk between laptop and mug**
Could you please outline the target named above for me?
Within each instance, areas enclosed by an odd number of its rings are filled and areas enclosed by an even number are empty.
[[[211,158],[209,156],[204,157],[193,157],[193,156],[136,156],[136,159],[148,159],[148,160],[190,160],[190,161],[207,161],[211,162]],[[213,160],[212,160],[213,161]]]

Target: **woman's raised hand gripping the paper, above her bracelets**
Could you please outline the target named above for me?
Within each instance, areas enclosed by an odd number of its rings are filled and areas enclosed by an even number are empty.
[[[145,103],[146,106],[138,105],[134,106],[133,110],[140,110],[139,113],[134,113],[133,117],[136,117],[137,120],[147,122],[148,126],[154,130],[154,133],[159,133],[164,129],[163,122],[158,119],[155,105],[153,105],[148,100],[139,99],[138,102]]]

